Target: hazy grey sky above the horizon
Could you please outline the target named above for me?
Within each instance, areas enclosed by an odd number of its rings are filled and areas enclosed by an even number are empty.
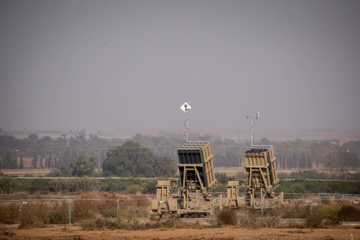
[[[360,1],[0,1],[3,130],[360,131]]]

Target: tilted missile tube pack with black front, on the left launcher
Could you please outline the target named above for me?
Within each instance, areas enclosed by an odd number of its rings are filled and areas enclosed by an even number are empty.
[[[177,149],[177,154],[183,191],[186,189],[188,192],[199,192],[204,198],[210,197],[217,184],[210,142],[187,141]]]

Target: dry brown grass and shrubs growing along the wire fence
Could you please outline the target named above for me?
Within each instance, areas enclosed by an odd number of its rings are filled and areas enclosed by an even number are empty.
[[[141,220],[149,216],[150,199],[144,195],[133,195],[125,199],[115,194],[93,192],[78,195],[77,199],[72,199],[70,203],[71,222],[78,223],[86,230],[205,227],[202,224],[182,221],[176,215],[168,216],[166,219],[159,218],[156,221]],[[20,222],[18,222],[18,204],[18,202],[6,202],[0,205],[0,223],[19,223],[19,228],[23,229],[44,227],[47,224],[68,224],[68,199],[32,200],[29,204],[22,204]],[[261,210],[255,208],[228,208],[221,211],[217,209],[215,214],[217,221],[212,223],[212,227],[319,228],[324,223],[334,225],[339,221],[359,221],[360,210],[357,206],[334,204],[314,207],[313,216],[305,218],[304,221],[298,220],[304,219],[304,212],[310,214],[308,207],[300,204],[276,205],[274,209],[264,209],[263,218],[261,218]],[[287,220],[281,221],[282,218]]]

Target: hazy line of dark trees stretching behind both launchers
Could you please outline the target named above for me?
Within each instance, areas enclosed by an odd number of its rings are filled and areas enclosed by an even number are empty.
[[[249,148],[249,142],[221,139],[211,133],[203,136],[192,134],[189,139],[211,141],[215,167],[243,169],[244,152]],[[57,139],[50,136],[39,138],[35,133],[16,139],[5,133],[0,135],[0,158],[4,169],[23,168],[23,158],[26,157],[32,159],[32,168],[51,168],[55,175],[82,176],[86,173],[89,176],[83,166],[91,166],[102,168],[105,176],[170,176],[176,168],[177,149],[183,143],[183,136],[166,132],[159,132],[157,136],[136,134],[128,140],[104,139],[93,134],[86,137],[85,131],[70,137],[63,134]],[[345,172],[360,167],[360,141],[340,145],[337,140],[276,142],[263,138],[254,144],[274,146],[277,168],[306,170],[322,164],[331,175],[335,171]],[[91,164],[80,164],[85,159]],[[170,164],[172,168],[164,164]]]

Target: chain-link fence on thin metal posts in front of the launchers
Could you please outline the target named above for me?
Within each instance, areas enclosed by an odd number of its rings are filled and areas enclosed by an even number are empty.
[[[284,194],[287,199],[254,199],[252,214],[257,217],[277,216],[282,219],[307,219],[319,216],[329,223],[356,222],[360,224],[360,198],[356,195],[316,195],[307,199],[300,194]],[[302,199],[305,196],[305,199]],[[66,197],[66,198],[65,198]],[[357,198],[356,198],[357,197]],[[145,219],[150,216],[150,204],[154,196],[114,195],[113,199],[77,199],[75,196],[39,199],[32,196],[20,200],[0,200],[1,224],[26,224],[42,222],[45,225],[71,225],[90,219],[106,218],[113,221]],[[230,199],[213,198],[214,208],[219,212]],[[193,202],[197,199],[193,198]],[[244,201],[245,203],[245,201]],[[212,216],[213,219],[216,218]]]

